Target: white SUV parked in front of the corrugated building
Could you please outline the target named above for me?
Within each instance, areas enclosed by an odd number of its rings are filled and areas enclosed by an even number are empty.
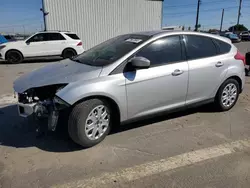
[[[38,32],[24,41],[0,45],[0,59],[21,63],[24,59],[48,56],[70,58],[84,52],[80,38],[72,32]]]

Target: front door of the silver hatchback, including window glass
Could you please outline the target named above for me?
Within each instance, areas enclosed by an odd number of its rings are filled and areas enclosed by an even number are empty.
[[[158,39],[135,56],[147,58],[151,66],[124,73],[128,118],[184,106],[188,64],[180,36]]]

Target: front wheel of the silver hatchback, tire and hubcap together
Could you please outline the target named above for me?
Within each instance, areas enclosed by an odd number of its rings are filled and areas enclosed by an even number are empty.
[[[103,119],[97,118],[98,112],[101,112]],[[111,122],[110,105],[105,100],[90,99],[77,104],[71,111],[68,121],[69,136],[84,148],[92,147],[104,140],[110,131]]]

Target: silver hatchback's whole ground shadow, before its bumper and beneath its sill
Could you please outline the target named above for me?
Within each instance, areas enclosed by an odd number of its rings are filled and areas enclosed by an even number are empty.
[[[117,126],[111,131],[110,136],[118,132],[131,130],[150,125],[152,123],[174,119],[197,112],[209,113],[214,111],[210,105],[206,105],[200,108],[193,108],[178,113],[162,114],[157,117],[151,117],[123,126]],[[41,150],[49,152],[72,152],[82,150],[81,147],[71,141],[67,134],[67,127],[65,125],[61,126],[61,128],[56,132],[49,132],[46,136],[41,138],[36,137],[35,129],[36,124],[33,119],[26,119],[18,116],[16,105],[0,107],[0,145],[15,148],[37,147]]]

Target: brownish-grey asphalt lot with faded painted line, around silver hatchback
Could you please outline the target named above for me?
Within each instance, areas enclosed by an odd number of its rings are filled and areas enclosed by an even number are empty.
[[[250,48],[248,42],[236,45],[243,53]],[[0,96],[12,95],[16,77],[48,63],[0,64]],[[18,117],[15,104],[0,107],[0,188],[249,185],[249,77],[229,112],[206,105],[117,126],[85,150],[64,129],[36,138],[33,120]]]

